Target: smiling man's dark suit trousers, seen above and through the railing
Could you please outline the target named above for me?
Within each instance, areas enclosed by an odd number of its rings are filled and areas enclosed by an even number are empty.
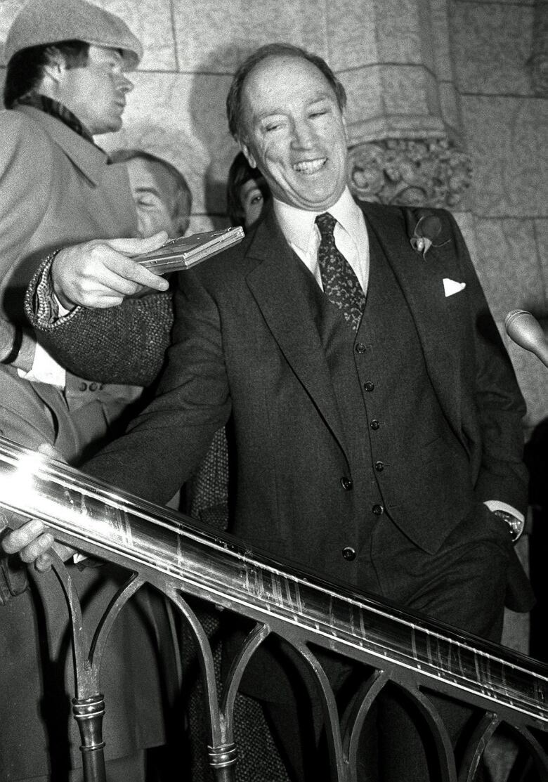
[[[360,588],[421,612],[468,633],[500,642],[507,568],[512,542],[506,525],[483,504],[477,504],[435,554],[421,551],[383,515],[372,530],[360,561]],[[317,651],[343,709],[367,669],[321,649]],[[295,665],[294,655],[292,665]],[[298,667],[298,666],[297,666]],[[263,703],[274,735],[295,782],[328,780],[328,759],[322,754],[321,703],[305,669],[302,682],[288,676],[285,701]],[[306,679],[309,681],[306,681]],[[294,697],[287,697],[288,692]],[[471,709],[450,698],[432,696],[456,748],[466,734]],[[362,737],[360,782],[427,782],[439,779],[432,768],[428,731],[414,715],[408,698],[387,688],[374,705]],[[341,713],[339,711],[339,713]]]

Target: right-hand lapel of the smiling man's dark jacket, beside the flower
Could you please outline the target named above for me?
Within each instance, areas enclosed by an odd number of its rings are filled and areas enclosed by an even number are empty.
[[[460,427],[460,328],[451,317],[443,291],[446,262],[433,247],[426,258],[411,247],[412,232],[403,212],[374,203],[360,203],[360,207],[367,230],[374,232],[407,300],[440,404],[449,420]]]

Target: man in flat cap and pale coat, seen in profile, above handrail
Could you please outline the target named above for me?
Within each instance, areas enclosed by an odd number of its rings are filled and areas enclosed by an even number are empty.
[[[0,429],[25,445],[39,432],[70,462],[105,435],[106,422],[138,389],[94,393],[81,378],[66,378],[24,332],[23,292],[50,249],[138,235],[126,166],[109,165],[94,136],[120,130],[133,88],[127,71],[141,55],[123,20],[83,0],[30,0],[5,42],[0,317],[8,327],[0,338],[0,389],[11,407],[9,415],[0,408]],[[164,286],[152,274],[149,282]]]

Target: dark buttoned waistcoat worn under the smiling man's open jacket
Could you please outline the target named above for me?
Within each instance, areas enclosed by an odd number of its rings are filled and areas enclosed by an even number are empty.
[[[447,512],[462,518],[472,500],[467,454],[428,377],[405,296],[374,231],[369,238],[367,301],[356,332],[303,266],[346,436],[351,473],[342,488],[355,494],[360,509],[338,536],[334,531],[346,560],[342,571],[367,561],[383,517],[435,551],[439,543],[428,540],[422,518]]]

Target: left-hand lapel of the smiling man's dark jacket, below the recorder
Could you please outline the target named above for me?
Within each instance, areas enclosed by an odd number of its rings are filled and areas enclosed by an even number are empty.
[[[306,281],[308,271],[288,246],[273,210],[257,228],[247,256],[260,261],[248,274],[247,283],[270,332],[346,453],[317,307]]]

